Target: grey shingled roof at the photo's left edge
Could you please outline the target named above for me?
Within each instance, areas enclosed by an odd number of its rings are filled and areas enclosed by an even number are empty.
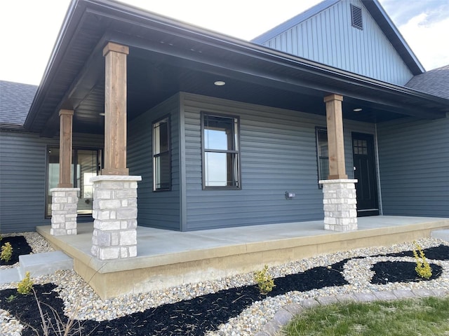
[[[0,128],[22,128],[36,90],[36,85],[0,80]]]

